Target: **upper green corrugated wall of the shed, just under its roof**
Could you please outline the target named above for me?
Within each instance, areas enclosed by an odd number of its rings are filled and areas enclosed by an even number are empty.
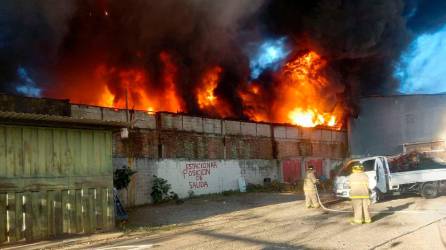
[[[0,177],[111,174],[109,131],[0,126]]]

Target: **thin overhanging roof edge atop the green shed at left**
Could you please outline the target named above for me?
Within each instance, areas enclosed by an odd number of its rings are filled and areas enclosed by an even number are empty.
[[[96,119],[84,119],[84,118],[73,118],[69,116],[56,116],[56,115],[44,115],[44,114],[33,114],[33,113],[17,113],[9,111],[0,111],[0,121],[31,121],[31,122],[57,122],[66,124],[80,124],[80,125],[96,125],[96,126],[107,126],[107,127],[127,127],[127,122],[120,121],[106,121],[106,120],[96,120]]]

